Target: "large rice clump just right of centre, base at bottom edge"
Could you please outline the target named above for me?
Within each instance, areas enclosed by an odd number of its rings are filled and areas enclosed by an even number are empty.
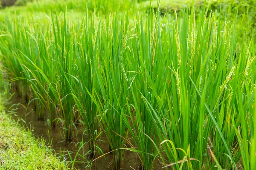
[[[159,17],[159,16],[158,16]],[[151,85],[157,87],[157,91],[163,88],[161,84],[161,77],[159,74],[164,74],[160,67],[163,65],[164,58],[161,56],[161,42],[160,40],[160,26],[158,23],[159,18],[151,11],[149,16],[144,17],[140,14],[137,16],[136,30],[134,37],[131,41],[132,48],[138,51],[128,57],[130,65],[128,69],[128,78],[130,80],[130,99],[128,100],[129,106],[129,119],[124,115],[126,125],[135,142],[137,154],[141,161],[141,168],[145,170],[154,169],[157,157],[161,157],[160,151],[156,147],[160,140],[156,135],[157,129],[152,126],[154,118],[150,116],[151,110],[148,110],[148,104],[145,101],[151,101],[153,107],[158,107],[155,96],[152,91]],[[139,44],[138,46],[136,44]],[[137,46],[137,47],[136,47]],[[161,158],[163,159],[163,158]]]

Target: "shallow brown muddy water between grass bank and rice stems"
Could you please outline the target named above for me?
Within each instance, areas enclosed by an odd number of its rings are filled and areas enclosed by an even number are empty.
[[[83,135],[83,127],[82,125],[76,125],[76,128],[73,129],[73,142],[66,142],[62,136],[64,136],[64,130],[61,130],[61,126],[57,125],[56,127],[50,129],[47,125],[47,118],[45,120],[38,120],[37,113],[34,108],[35,105],[30,104],[27,105],[25,100],[17,95],[12,98],[12,103],[9,103],[7,108],[7,112],[12,114],[12,118],[19,121],[23,124],[24,127],[29,128],[39,138],[44,138],[46,140],[46,144],[51,146],[53,153],[57,156],[60,156],[62,153],[62,159],[70,160],[70,156],[67,154],[67,150],[71,153],[72,160],[75,158],[76,153],[79,150],[79,144],[76,147],[78,142],[81,142],[82,139],[86,142],[88,141],[87,136]],[[23,121],[23,120],[24,121]],[[26,123],[24,123],[26,122]],[[109,144],[107,142],[106,136],[103,134],[99,138],[105,142],[98,142],[98,146],[102,149],[103,153],[109,152]],[[128,147],[128,146],[127,146]],[[89,150],[88,145],[84,146],[84,149],[79,151],[79,154],[85,155]],[[99,155],[98,155],[99,156]],[[108,170],[112,169],[113,164],[111,164],[113,160],[113,155],[107,154],[105,157],[100,157],[93,161],[91,167],[86,167],[88,165],[87,161],[90,161],[91,158],[89,155],[84,156],[83,159],[81,156],[76,157],[76,163],[74,167],[80,170]],[[161,165],[157,163],[155,170],[161,169]],[[139,170],[140,169],[140,160],[136,153],[131,151],[125,151],[124,160],[122,162],[122,170]]]

